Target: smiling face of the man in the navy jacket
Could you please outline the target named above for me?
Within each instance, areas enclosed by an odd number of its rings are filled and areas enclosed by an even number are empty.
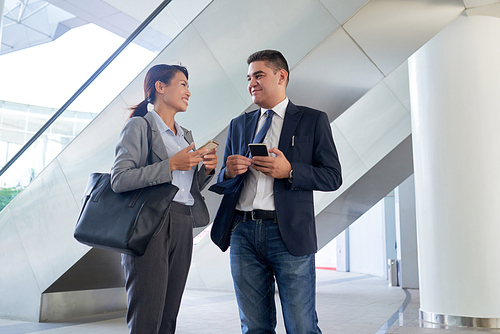
[[[248,92],[256,105],[270,109],[283,100],[286,77],[283,81],[282,71],[286,73],[284,70],[273,73],[266,61],[254,61],[248,65]]]

